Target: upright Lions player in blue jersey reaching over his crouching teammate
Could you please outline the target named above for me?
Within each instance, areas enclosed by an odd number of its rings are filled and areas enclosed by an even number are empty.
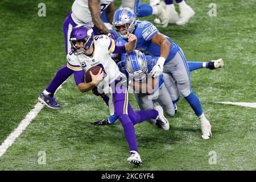
[[[177,90],[187,100],[200,121],[203,139],[212,137],[211,125],[203,113],[199,98],[192,91],[187,60],[181,48],[170,38],[160,34],[150,22],[137,21],[136,15],[129,8],[115,11],[113,26],[121,38],[133,33],[137,36],[136,49],[147,55],[158,56],[159,59],[152,69],[152,77],[158,77],[162,72],[176,81]],[[164,79],[167,78],[164,76]],[[168,79],[168,78],[167,78]],[[168,88],[167,88],[168,89]],[[177,95],[177,98],[179,95]]]

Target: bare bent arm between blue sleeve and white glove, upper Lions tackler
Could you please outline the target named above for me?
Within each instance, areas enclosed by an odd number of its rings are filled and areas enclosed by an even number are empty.
[[[157,32],[151,39],[152,43],[160,46],[160,57],[164,57],[164,59],[167,59],[171,43],[164,37],[162,34]]]

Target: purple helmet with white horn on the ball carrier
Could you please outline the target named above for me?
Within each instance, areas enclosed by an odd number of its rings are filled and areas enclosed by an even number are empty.
[[[85,24],[78,25],[73,28],[70,34],[70,43],[72,51],[75,55],[80,55],[84,53],[87,49],[92,47],[94,39],[93,29]],[[81,50],[77,50],[76,43],[84,42],[84,48]]]

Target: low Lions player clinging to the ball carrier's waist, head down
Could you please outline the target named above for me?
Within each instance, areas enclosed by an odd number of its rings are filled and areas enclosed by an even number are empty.
[[[126,43],[124,40],[123,42]],[[173,116],[177,111],[176,103],[179,101],[179,98],[176,98],[176,94],[179,94],[179,90],[176,89],[176,81],[172,77],[171,80],[168,78],[165,81],[164,75],[166,73],[163,73],[159,77],[155,78],[152,78],[149,74],[158,59],[159,57],[152,57],[149,55],[145,56],[141,51],[135,50],[126,56],[126,60],[119,61],[117,65],[119,71],[124,73],[126,77],[131,80],[131,86],[137,90],[137,92],[135,92],[135,97],[137,98],[140,109],[150,110],[154,107],[154,104],[157,101],[169,116]],[[222,59],[213,60],[210,62],[188,63],[191,63],[188,64],[191,65],[189,66],[189,71],[200,69],[202,68],[202,65],[208,65],[208,67],[210,65],[209,69],[222,68],[222,66],[224,66],[224,61]],[[166,86],[168,86],[168,90]],[[142,90],[144,92],[142,92]],[[148,95],[151,96],[148,97]],[[92,125],[110,125],[113,124],[116,120],[117,118],[112,115],[108,119],[102,119],[100,121],[93,122]],[[155,120],[151,119],[151,122],[155,123]],[[157,125],[157,123],[155,124]]]

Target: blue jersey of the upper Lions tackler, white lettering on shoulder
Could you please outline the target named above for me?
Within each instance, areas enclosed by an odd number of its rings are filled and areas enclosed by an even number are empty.
[[[137,26],[134,35],[137,36],[136,49],[144,52],[145,55],[160,56],[160,46],[152,43],[152,37],[159,32],[158,29],[148,21],[137,21]],[[164,35],[165,36],[165,35]],[[170,61],[179,50],[179,46],[176,43],[172,43],[172,40],[166,36],[167,40],[171,43],[170,53],[166,59],[166,63]]]

